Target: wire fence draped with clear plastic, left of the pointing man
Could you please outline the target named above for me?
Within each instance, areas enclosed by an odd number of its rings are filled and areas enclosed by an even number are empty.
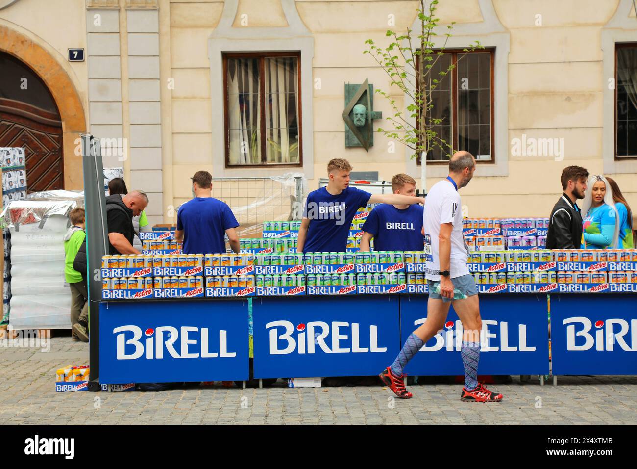
[[[212,197],[229,205],[240,227],[239,237],[259,237],[263,222],[301,220],[307,179],[303,173],[252,179],[213,179]]]

